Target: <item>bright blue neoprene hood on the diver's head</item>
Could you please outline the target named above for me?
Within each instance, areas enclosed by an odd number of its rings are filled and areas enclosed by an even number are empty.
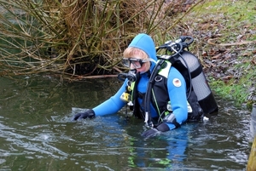
[[[155,62],[157,61],[154,41],[147,34],[145,33],[138,34],[136,37],[133,38],[129,47],[140,48],[146,54],[148,54],[149,58],[151,58]],[[155,63],[151,61],[150,71],[153,71],[154,66],[155,66]]]

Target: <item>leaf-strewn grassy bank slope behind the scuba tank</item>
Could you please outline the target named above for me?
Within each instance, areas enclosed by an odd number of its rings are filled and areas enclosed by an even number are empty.
[[[249,108],[256,101],[255,16],[253,1],[211,0],[183,19],[212,90]]]

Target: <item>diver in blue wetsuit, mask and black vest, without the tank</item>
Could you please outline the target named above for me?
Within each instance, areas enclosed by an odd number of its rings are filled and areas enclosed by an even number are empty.
[[[178,44],[181,45],[181,43],[175,43],[177,50],[170,46],[170,43],[164,45],[180,53],[183,48],[178,47]],[[119,74],[119,79],[124,80],[119,91],[102,104],[75,114],[73,121],[114,114],[125,105],[129,105],[133,115],[144,120],[148,130],[142,135],[148,138],[180,128],[189,120],[202,119],[204,111],[195,94],[195,88],[191,88],[191,77],[184,75],[189,77],[184,78],[177,67],[172,66],[172,62],[175,61],[169,58],[173,55],[163,55],[159,58],[150,36],[139,33],[133,38],[123,55],[123,64],[129,67],[130,71]],[[188,71],[186,67],[183,68]],[[190,81],[187,81],[189,79]],[[214,99],[212,101],[213,105],[210,107],[216,111]],[[202,104],[208,104],[208,102],[209,100]]]

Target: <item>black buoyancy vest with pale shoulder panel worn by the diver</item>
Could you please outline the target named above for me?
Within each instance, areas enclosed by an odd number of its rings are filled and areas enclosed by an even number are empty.
[[[164,67],[162,67],[160,71],[158,71],[156,77],[154,77],[153,88],[151,90],[147,90],[152,91],[150,103],[152,103],[158,112],[158,117],[152,118],[154,125],[159,125],[167,114],[172,113],[172,104],[167,93],[167,79],[171,67],[172,63],[169,60],[165,60]],[[139,79],[137,82],[138,81]],[[131,108],[131,110],[133,110],[134,116],[144,118],[143,111],[139,108],[140,106],[137,103],[137,98],[141,98],[144,101],[145,94],[137,91],[136,84],[136,82],[131,83],[131,100],[133,103],[133,108]],[[203,111],[201,110],[201,106],[199,105],[195,92],[192,89],[192,91],[189,92],[188,98],[188,121],[199,121],[202,117]]]

